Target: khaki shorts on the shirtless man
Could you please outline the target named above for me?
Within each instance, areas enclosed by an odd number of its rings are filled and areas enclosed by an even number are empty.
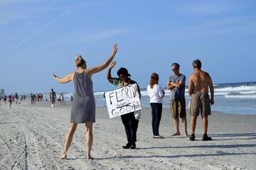
[[[192,116],[210,115],[210,98],[208,94],[192,94],[189,106],[189,112]]]

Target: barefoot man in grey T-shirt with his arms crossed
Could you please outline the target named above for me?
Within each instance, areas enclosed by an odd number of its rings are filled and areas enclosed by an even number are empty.
[[[186,120],[186,100],[185,100],[185,81],[186,76],[179,72],[178,63],[171,64],[171,70],[174,72],[167,81],[167,89],[171,90],[171,114],[174,120],[176,132],[172,136],[181,135],[179,130],[179,120],[181,118],[185,136],[188,136],[187,120]]]

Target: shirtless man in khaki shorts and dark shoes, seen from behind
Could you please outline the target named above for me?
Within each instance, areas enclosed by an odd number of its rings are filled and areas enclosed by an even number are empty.
[[[203,124],[203,139],[212,140],[207,135],[208,129],[208,115],[210,115],[210,105],[214,103],[214,89],[213,82],[210,75],[207,72],[201,70],[201,61],[193,61],[194,73],[189,77],[188,82],[188,94],[191,96],[189,111],[191,113],[191,137],[189,140],[195,140],[195,129],[196,119],[198,118],[199,112],[202,116]],[[208,88],[210,89],[210,98],[208,94]]]

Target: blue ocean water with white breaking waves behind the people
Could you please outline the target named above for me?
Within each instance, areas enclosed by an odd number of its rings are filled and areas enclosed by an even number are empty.
[[[163,107],[170,108],[170,91],[164,90]],[[243,82],[232,84],[214,84],[215,103],[211,107],[212,111],[221,113],[234,113],[240,115],[256,115],[256,82]],[[142,107],[150,107],[149,96],[146,89],[142,89]],[[97,106],[106,106],[104,91],[95,91],[95,101]],[[72,94],[65,94],[65,101],[70,101]],[[188,87],[185,92],[186,106],[190,97],[188,96]]]

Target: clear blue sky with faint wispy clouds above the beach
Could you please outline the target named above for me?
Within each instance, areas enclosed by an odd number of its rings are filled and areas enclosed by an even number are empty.
[[[76,55],[87,66],[115,57],[144,88],[151,72],[161,86],[181,65],[186,84],[200,59],[214,84],[256,81],[256,1],[45,1],[0,0],[0,88],[6,92],[73,91],[58,84],[75,71]],[[95,91],[112,89],[105,69]]]

